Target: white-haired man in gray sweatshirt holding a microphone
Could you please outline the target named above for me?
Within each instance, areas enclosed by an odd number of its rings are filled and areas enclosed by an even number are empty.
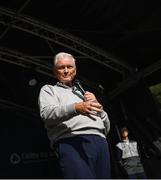
[[[55,85],[39,94],[40,116],[64,178],[110,178],[107,134],[110,121],[91,92],[75,83],[76,62],[60,52],[54,58]]]

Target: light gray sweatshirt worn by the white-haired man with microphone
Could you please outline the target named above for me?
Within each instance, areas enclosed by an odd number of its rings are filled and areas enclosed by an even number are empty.
[[[82,102],[83,96],[77,89],[73,93],[74,88],[58,82],[54,86],[44,85],[40,90],[40,116],[51,146],[58,139],[81,134],[95,134],[105,138],[110,130],[110,121],[104,110],[98,116],[93,116],[94,119],[76,112],[74,103]]]

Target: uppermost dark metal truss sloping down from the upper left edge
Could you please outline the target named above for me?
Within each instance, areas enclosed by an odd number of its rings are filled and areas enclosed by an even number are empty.
[[[112,57],[106,51],[103,51],[63,30],[34,20],[31,17],[22,16],[16,12],[0,8],[0,23],[9,28],[16,28],[52,43],[72,49],[86,58],[96,61],[97,63],[118,73],[125,74],[125,72],[133,72],[131,66]]]

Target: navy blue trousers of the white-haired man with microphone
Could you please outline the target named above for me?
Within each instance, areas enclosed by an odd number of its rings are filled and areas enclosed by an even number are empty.
[[[55,145],[63,178],[110,179],[111,165],[107,140],[97,135],[79,135]]]

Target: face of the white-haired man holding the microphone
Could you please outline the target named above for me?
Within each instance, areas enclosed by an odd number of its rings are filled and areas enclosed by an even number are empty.
[[[55,76],[56,78],[68,86],[72,85],[72,81],[76,75],[76,66],[72,58],[65,57],[59,59],[55,66]]]

